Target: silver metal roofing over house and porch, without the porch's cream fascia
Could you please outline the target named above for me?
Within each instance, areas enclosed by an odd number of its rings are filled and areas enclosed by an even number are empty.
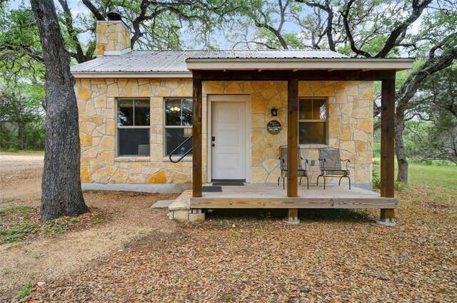
[[[84,74],[189,74],[188,63],[218,63],[256,61],[257,65],[265,62],[361,62],[361,61],[408,61],[412,59],[367,59],[349,58],[341,53],[329,50],[186,50],[186,51],[130,51],[120,56],[101,56],[71,68],[76,78]],[[338,68],[338,66],[336,66]],[[395,69],[395,68],[393,68]],[[403,68],[404,69],[404,68]]]

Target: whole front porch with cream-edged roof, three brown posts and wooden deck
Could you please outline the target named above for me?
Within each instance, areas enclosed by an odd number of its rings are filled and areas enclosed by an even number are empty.
[[[203,208],[288,208],[288,221],[298,222],[298,208],[379,208],[381,222],[395,225],[394,210],[394,125],[396,71],[412,67],[411,60],[393,59],[320,59],[312,58],[188,58],[193,78],[192,192],[191,213]],[[204,140],[203,83],[206,81],[287,81],[286,130],[287,187],[247,185],[223,188],[222,192],[203,192]],[[298,187],[298,107],[299,81],[381,81],[381,195],[343,187]],[[294,127],[291,127],[293,125]],[[371,126],[372,128],[372,126]],[[212,135],[212,134],[211,134]],[[368,143],[369,139],[364,139]],[[330,144],[329,144],[330,145]],[[213,145],[214,146],[214,145]],[[253,188],[251,186],[259,186]],[[271,190],[271,191],[270,191]]]

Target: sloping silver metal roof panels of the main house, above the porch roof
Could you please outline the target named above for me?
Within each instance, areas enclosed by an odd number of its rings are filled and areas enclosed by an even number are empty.
[[[226,50],[226,51],[131,51],[121,56],[102,56],[71,68],[72,73],[189,72],[188,58],[348,58],[327,50]]]

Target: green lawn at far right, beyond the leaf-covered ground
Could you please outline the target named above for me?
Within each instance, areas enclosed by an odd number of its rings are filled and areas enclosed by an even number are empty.
[[[378,163],[379,159],[373,159]],[[381,165],[373,164],[373,169],[378,173]],[[398,165],[395,161],[395,175],[398,172]],[[408,183],[427,184],[457,190],[457,165],[426,165],[422,163],[409,163]]]

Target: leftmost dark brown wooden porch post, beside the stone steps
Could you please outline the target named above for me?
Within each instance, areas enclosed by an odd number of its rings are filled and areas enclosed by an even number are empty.
[[[192,197],[201,197],[202,168],[201,168],[201,78],[193,78],[193,115],[192,115]]]

